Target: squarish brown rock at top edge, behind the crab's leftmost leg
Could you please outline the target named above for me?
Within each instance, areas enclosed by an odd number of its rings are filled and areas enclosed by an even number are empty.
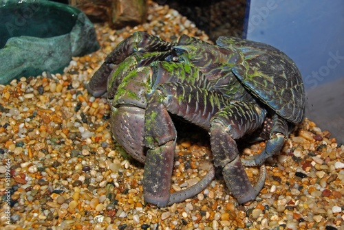
[[[119,29],[144,23],[147,6],[145,0],[114,0],[111,10],[111,26]]]

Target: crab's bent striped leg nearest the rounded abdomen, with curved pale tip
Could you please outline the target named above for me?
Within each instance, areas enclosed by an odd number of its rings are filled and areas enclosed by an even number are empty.
[[[266,171],[262,166],[257,184],[252,186],[239,158],[234,139],[239,139],[261,126],[265,113],[259,106],[250,102],[233,102],[211,120],[211,150],[214,164],[222,167],[224,181],[239,203],[252,200],[259,194],[264,186]]]

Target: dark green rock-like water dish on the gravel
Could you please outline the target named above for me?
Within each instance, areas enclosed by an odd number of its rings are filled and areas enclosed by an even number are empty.
[[[0,0],[0,84],[43,71],[62,72],[72,56],[99,48],[94,25],[72,6]]]

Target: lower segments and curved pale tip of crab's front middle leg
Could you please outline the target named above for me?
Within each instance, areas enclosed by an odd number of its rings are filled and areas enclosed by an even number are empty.
[[[144,144],[150,149],[144,162],[143,189],[144,200],[164,207],[179,203],[202,192],[215,176],[213,164],[208,164],[208,174],[193,185],[180,192],[170,194],[171,175],[175,139],[174,124],[164,105],[153,97],[146,108]]]

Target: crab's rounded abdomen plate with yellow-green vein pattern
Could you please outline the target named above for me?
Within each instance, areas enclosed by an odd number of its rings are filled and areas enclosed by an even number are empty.
[[[292,123],[300,123],[305,108],[301,73],[279,49],[254,41],[220,37],[217,45],[236,49],[241,61],[232,71],[255,97]]]

